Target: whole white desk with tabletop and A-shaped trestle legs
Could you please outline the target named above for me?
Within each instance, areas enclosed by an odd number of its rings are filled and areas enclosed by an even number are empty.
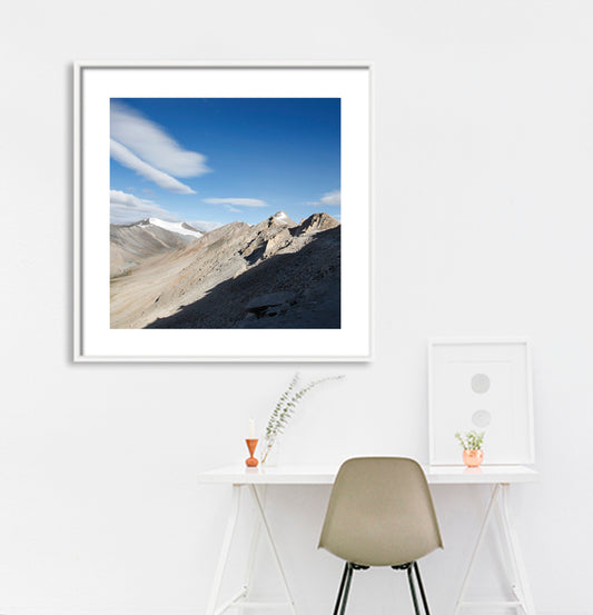
[[[298,466],[278,466],[266,468],[246,468],[241,465],[228,466],[223,468],[202,472],[199,475],[200,483],[224,483],[233,485],[233,499],[230,513],[227,522],[227,528],[223,540],[220,557],[215,573],[214,585],[210,594],[210,601],[206,615],[221,615],[230,607],[240,608],[264,608],[264,607],[287,607],[293,615],[296,615],[295,603],[290,594],[290,588],[284,574],[284,569],[274,543],[274,537],[266,518],[263,504],[263,493],[268,485],[332,485],[336,477],[338,466],[322,465],[298,465]],[[463,608],[468,606],[480,607],[515,607],[517,613],[524,615],[535,615],[533,599],[527,582],[527,575],[521,556],[520,545],[513,528],[512,517],[508,509],[508,488],[511,483],[532,483],[538,479],[537,472],[526,466],[484,466],[477,469],[468,469],[463,466],[438,466],[425,467],[424,472],[428,484],[431,485],[492,485],[492,494],[488,505],[484,513],[482,527],[476,538],[474,552],[467,566],[467,572],[463,579],[454,615],[457,615]],[[247,559],[247,571],[245,581],[239,591],[225,603],[219,605],[219,593],[223,575],[230,552],[233,535],[240,508],[240,492],[246,487],[254,498],[258,515],[258,523],[254,528],[251,537],[251,547]],[[476,554],[482,545],[486,527],[497,512],[495,517],[498,522],[503,540],[506,547],[506,557],[510,571],[511,588],[514,593],[513,601],[497,601],[487,603],[466,602],[465,593],[470,581],[470,575],[474,566]],[[322,520],[322,519],[320,519]],[[251,585],[251,574],[254,567],[255,552],[259,538],[260,527],[264,528],[268,543],[271,547],[271,554],[278,567],[280,579],[286,593],[284,603],[263,603],[248,599],[249,587]]]

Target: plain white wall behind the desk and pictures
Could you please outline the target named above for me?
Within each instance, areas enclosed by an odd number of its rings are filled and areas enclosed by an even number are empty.
[[[538,614],[591,615],[592,21],[561,0],[4,2],[0,613],[202,613],[229,493],[197,473],[245,456],[248,418],[297,367],[71,364],[71,62],[360,59],[376,66],[376,356],[299,366],[347,379],[303,405],[285,458],[426,460],[426,339],[528,335],[542,482],[513,508]],[[269,493],[304,615],[329,613],[338,583],[315,549],[327,495]],[[485,497],[435,489],[435,613]],[[494,594],[487,572],[474,589]],[[350,613],[406,613],[392,577],[362,575]]]

